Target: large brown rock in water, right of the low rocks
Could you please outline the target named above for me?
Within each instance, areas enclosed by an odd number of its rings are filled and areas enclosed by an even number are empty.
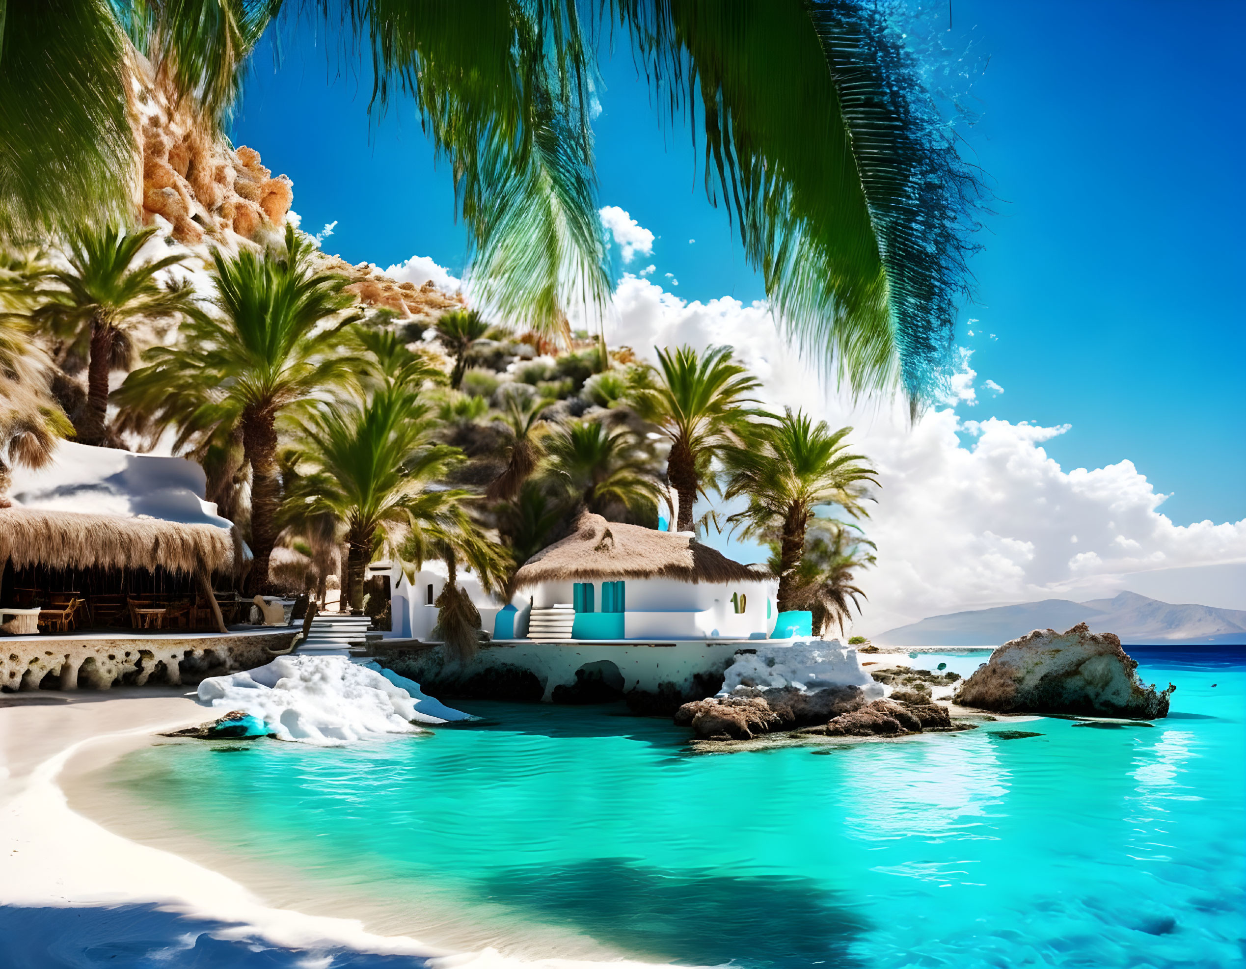
[[[1079,623],[1067,633],[1035,629],[1006,643],[956,695],[964,706],[1003,714],[1080,714],[1154,720],[1169,695],[1139,681],[1134,661],[1111,633]]]

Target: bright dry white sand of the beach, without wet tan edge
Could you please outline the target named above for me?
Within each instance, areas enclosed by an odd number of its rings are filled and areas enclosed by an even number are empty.
[[[0,697],[0,904],[146,903],[217,920],[234,938],[258,937],[280,947],[446,954],[415,939],[365,932],[355,919],[270,908],[223,874],[120,837],[70,808],[60,787],[67,765],[98,767],[101,759],[115,760],[159,731],[204,719],[193,694],[173,689]],[[480,954],[486,962],[490,957]]]

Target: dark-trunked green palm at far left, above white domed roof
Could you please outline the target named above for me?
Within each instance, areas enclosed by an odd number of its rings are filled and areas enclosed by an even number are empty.
[[[65,247],[69,268],[41,274],[50,285],[37,290],[40,305],[31,319],[69,341],[62,357],[88,359],[86,410],[77,427],[85,445],[116,446],[107,425],[108,374],[130,369],[130,329],[141,320],[183,316],[196,308],[188,284],[158,280],[159,273],[182,262],[181,255],[140,260],[155,234],[155,227],[78,229]]]

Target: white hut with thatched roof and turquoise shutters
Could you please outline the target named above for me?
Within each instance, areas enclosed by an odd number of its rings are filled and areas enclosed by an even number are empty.
[[[775,579],[684,532],[583,514],[516,574],[531,593],[528,635],[548,639],[763,639]],[[516,635],[523,635],[517,629]]]

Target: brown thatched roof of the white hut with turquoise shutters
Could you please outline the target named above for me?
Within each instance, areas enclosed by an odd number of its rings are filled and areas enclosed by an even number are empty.
[[[759,582],[766,575],[688,534],[582,514],[576,531],[530,558],[515,582],[523,588],[538,582],[653,578],[720,583]]]

